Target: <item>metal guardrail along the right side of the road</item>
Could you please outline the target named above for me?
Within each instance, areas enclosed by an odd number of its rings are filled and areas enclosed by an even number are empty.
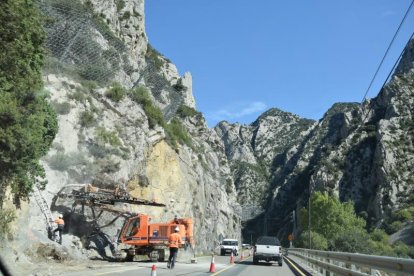
[[[289,248],[287,252],[316,266],[318,270],[340,275],[375,275],[375,271],[414,275],[414,260],[411,259],[302,248]]]

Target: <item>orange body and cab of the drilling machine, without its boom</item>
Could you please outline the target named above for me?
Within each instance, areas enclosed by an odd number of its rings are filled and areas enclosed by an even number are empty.
[[[125,250],[131,256],[151,254],[157,251],[161,254],[163,248],[168,248],[168,237],[178,227],[181,236],[181,248],[194,246],[193,220],[191,218],[175,218],[166,223],[151,223],[151,218],[145,214],[138,214],[127,219],[121,229],[118,242],[129,245]],[[164,254],[164,253],[162,253]],[[164,257],[158,258],[163,260]]]

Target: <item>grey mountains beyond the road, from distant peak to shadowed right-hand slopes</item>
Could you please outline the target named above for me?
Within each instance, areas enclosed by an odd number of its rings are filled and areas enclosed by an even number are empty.
[[[384,227],[392,212],[413,204],[413,51],[411,41],[377,97],[335,104],[317,123],[270,110],[248,126],[215,128],[239,195],[256,205],[266,199],[267,211],[249,227],[287,237],[309,190],[354,201],[369,227]]]

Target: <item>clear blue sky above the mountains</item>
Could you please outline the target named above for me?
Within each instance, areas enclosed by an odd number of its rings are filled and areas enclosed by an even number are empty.
[[[151,45],[193,76],[213,127],[249,124],[276,107],[320,119],[361,102],[411,0],[147,0]],[[409,14],[368,97],[414,32]]]

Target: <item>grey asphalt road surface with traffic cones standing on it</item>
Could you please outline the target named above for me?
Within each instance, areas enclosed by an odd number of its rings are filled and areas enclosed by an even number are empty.
[[[247,255],[247,254],[246,254]],[[253,265],[252,258],[246,256],[243,260],[240,257],[235,257],[235,263],[230,264],[230,256],[215,256],[214,266],[215,273],[210,273],[211,257],[197,258],[197,263],[179,262],[173,270],[167,269],[167,263],[152,263],[152,262],[132,262],[132,263],[117,263],[102,265],[99,268],[79,271],[77,273],[68,273],[63,275],[151,275],[151,268],[156,266],[156,275],[295,275],[286,263],[283,263],[282,267],[279,267],[277,263],[267,264],[265,262],[259,263],[259,265]]]

